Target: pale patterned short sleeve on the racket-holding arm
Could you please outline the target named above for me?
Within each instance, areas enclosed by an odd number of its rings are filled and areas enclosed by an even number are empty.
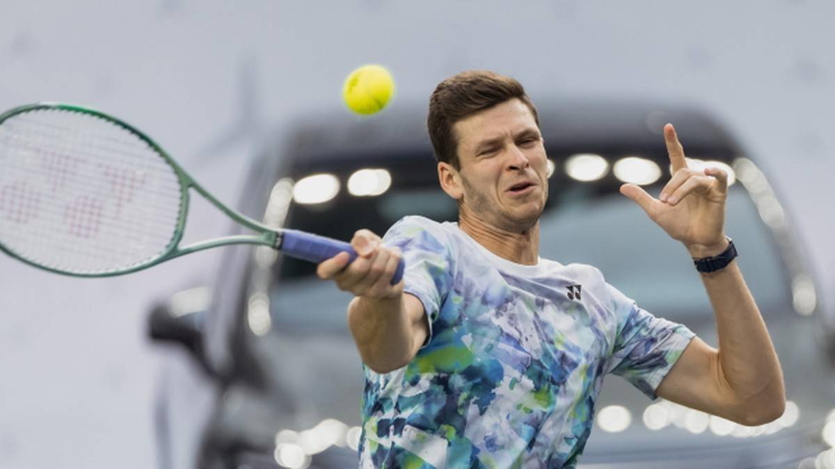
[[[433,322],[438,319],[452,283],[450,250],[443,243],[443,233],[433,225],[438,224],[423,217],[409,216],[392,225],[383,236],[383,243],[397,246],[402,251],[406,263],[403,291],[415,295],[428,315],[429,335],[423,346],[432,340]]]

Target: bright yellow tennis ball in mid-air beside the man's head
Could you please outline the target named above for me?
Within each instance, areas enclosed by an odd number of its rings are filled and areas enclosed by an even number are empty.
[[[394,79],[380,65],[363,65],[345,78],[342,98],[353,112],[369,115],[386,107],[394,94]]]

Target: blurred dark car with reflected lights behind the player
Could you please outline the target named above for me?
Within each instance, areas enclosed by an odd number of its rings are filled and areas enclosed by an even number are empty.
[[[646,310],[712,345],[711,305],[686,250],[618,188],[630,181],[660,191],[669,178],[666,122],[676,124],[691,165],[719,164],[732,175],[726,232],[777,347],[789,401],[778,421],[746,427],[647,401],[607,377],[581,466],[797,467],[828,457],[822,431],[835,421],[835,371],[819,340],[822,304],[790,214],[754,159],[716,119],[685,105],[559,101],[539,103],[539,115],[551,160],[540,255],[595,265]],[[265,144],[238,208],[341,240],[360,228],[382,235],[407,214],[457,217],[438,187],[423,107],[298,122]],[[213,283],[154,309],[151,335],[190,352],[160,383],[160,466],[357,466],[363,380],[346,323],[351,295],[314,272],[268,248],[228,248]]]

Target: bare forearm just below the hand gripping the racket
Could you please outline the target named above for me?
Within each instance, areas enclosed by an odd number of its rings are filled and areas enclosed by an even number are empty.
[[[377,373],[405,366],[417,350],[406,301],[402,293],[384,300],[357,296],[348,305],[348,326],[357,350],[362,361]]]

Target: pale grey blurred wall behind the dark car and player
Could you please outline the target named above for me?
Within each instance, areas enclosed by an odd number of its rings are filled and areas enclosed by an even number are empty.
[[[0,108],[56,100],[113,113],[245,209],[238,201],[256,161],[293,157],[265,150],[287,146],[285,129],[320,114],[340,125],[361,120],[341,91],[363,63],[384,64],[397,82],[376,119],[421,109],[440,80],[468,68],[518,78],[534,103],[686,103],[721,122],[770,176],[816,279],[812,309],[832,325],[833,17],[835,4],[821,0],[4,1]],[[195,204],[187,236],[229,230],[222,215]],[[228,250],[106,280],[0,256],[0,467],[192,466],[189,456],[159,456],[159,415],[171,415],[170,406],[200,415],[201,402],[217,396],[182,350],[147,338],[146,324],[159,301],[215,281]],[[162,406],[171,376],[179,396]],[[166,421],[164,431],[185,440],[175,446],[186,448],[169,453],[188,453],[205,437],[189,436],[186,417]]]

